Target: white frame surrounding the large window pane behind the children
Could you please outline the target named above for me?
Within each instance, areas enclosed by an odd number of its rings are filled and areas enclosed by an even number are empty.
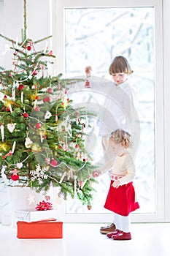
[[[168,0],[51,0],[50,29],[53,34],[53,51],[57,56],[56,70],[64,75],[64,9],[66,7],[154,7],[155,8],[155,214],[131,214],[132,222],[165,222],[170,221],[169,203],[169,130],[170,124],[166,118],[169,114],[170,86],[168,61],[163,49],[168,50],[170,32],[168,28],[170,4]],[[164,16],[163,16],[164,15]],[[166,25],[164,23],[166,21]],[[163,31],[164,25],[164,31]],[[163,34],[168,32],[168,38],[163,41]],[[164,32],[164,33],[163,33]],[[164,48],[163,48],[164,46]],[[167,54],[167,52],[166,52]],[[164,57],[164,58],[163,58]],[[163,66],[164,64],[164,66]],[[163,70],[164,67],[164,70]],[[163,74],[163,71],[165,72]],[[163,80],[164,78],[164,80]],[[167,108],[169,107],[169,108]],[[170,140],[169,140],[170,141]],[[65,222],[109,222],[110,214],[65,214],[65,203],[58,206],[58,216]]]

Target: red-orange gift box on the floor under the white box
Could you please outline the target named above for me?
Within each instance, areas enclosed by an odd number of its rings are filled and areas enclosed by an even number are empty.
[[[18,238],[63,238],[63,222],[43,219],[37,222],[17,222]]]

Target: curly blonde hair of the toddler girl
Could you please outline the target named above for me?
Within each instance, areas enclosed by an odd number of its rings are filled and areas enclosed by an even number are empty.
[[[114,132],[111,132],[110,140],[117,144],[121,143],[124,148],[132,146],[131,135],[123,129],[116,129]]]

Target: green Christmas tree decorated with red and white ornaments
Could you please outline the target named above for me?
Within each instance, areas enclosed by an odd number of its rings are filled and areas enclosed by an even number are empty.
[[[69,87],[76,80],[50,75],[52,50],[36,51],[27,37],[26,0],[22,42],[11,43],[12,69],[0,68],[1,178],[8,186],[47,191],[59,187],[66,199],[77,196],[90,206],[93,199],[93,165],[85,151],[85,109],[73,109]]]

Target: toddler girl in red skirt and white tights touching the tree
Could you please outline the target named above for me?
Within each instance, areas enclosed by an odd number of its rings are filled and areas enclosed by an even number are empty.
[[[99,170],[95,170],[93,177],[109,170],[111,183],[104,208],[113,211],[116,229],[112,233],[107,233],[107,237],[114,240],[130,240],[129,214],[139,208],[133,186],[135,165],[128,151],[131,146],[131,135],[117,129],[110,135],[109,146],[112,149],[112,158]]]

